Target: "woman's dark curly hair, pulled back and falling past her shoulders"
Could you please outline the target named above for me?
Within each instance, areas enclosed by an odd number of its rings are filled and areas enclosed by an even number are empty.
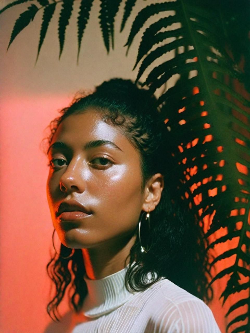
[[[51,133],[45,139],[50,144],[59,124],[66,117],[90,108],[100,113],[103,121],[119,128],[138,151],[141,190],[155,173],[159,172],[164,177],[160,202],[150,213],[151,249],[147,253],[141,252],[137,228],[136,241],[128,255],[130,262],[125,276],[126,288],[141,291],[165,277],[207,303],[213,298],[213,290],[208,285],[209,259],[203,230],[195,217],[174,200],[176,191],[171,179],[178,166],[171,164],[171,132],[167,129],[155,96],[139,86],[140,83],[115,78],[97,86],[93,93],[78,96],[69,107],[60,111],[62,116],[51,121]],[[68,255],[68,248],[63,244],[60,255]],[[55,311],[68,286],[69,292],[73,290],[73,294],[69,294],[69,307],[73,306],[73,310],[80,312],[87,295],[82,250],[75,249],[73,256],[68,259],[55,253],[47,264],[47,272],[56,286],[56,295],[47,305],[50,317],[53,312],[56,320],[59,320]],[[149,272],[153,280],[146,283]]]

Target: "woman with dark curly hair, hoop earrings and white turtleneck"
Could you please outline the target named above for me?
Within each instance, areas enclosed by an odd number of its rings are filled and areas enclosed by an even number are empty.
[[[170,196],[170,132],[156,102],[112,79],[51,122],[47,197],[62,244],[47,265],[48,313],[73,290],[53,333],[220,332],[203,301],[201,231]]]

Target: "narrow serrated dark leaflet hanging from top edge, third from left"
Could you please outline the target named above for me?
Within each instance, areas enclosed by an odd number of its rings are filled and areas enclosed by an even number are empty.
[[[59,59],[61,58],[61,54],[63,51],[65,31],[66,31],[67,25],[69,24],[70,16],[72,14],[73,3],[74,3],[74,0],[63,0],[63,2],[62,2],[62,9],[61,9],[59,21],[58,21],[58,36],[59,36],[59,43],[60,43]]]

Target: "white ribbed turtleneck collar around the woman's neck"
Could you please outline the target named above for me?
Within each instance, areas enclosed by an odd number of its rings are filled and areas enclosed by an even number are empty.
[[[128,266],[98,280],[89,279],[85,273],[84,280],[87,284],[88,294],[84,299],[82,311],[86,317],[95,318],[109,313],[138,293],[132,290],[129,292],[125,287]]]

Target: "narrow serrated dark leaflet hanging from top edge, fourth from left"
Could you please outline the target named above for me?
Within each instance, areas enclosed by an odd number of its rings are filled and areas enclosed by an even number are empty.
[[[88,20],[89,20],[89,14],[90,14],[90,10],[93,4],[93,0],[82,0],[81,4],[80,4],[80,11],[79,11],[79,15],[77,18],[77,27],[78,27],[78,52],[77,52],[77,63],[79,60],[79,53],[80,53],[80,49],[81,49],[81,42],[82,42],[82,37],[83,37],[83,33],[84,30],[87,26]]]

